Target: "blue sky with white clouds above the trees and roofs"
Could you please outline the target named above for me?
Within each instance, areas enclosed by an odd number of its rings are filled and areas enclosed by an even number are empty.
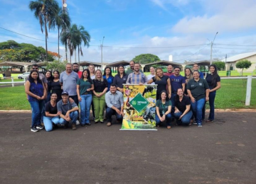
[[[0,42],[45,47],[29,2],[0,0]],[[256,50],[255,0],[66,0],[66,4],[72,23],[83,25],[91,35],[80,62],[101,62],[102,41],[103,62],[130,61],[139,54],[156,54],[161,60],[172,55],[179,63],[209,60],[214,38],[213,59]],[[48,33],[48,50],[58,52],[57,29]],[[63,45],[60,55],[65,57]]]

